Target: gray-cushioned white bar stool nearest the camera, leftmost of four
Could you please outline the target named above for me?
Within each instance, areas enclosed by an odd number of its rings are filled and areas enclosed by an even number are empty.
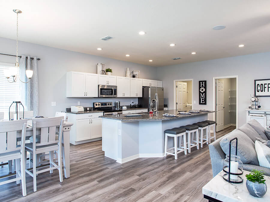
[[[167,144],[168,144],[168,136],[174,138],[174,154],[167,151]],[[183,148],[177,148],[177,137],[184,136],[184,147]],[[164,146],[164,157],[167,156],[167,154],[171,154],[174,156],[175,160],[177,160],[177,154],[184,151],[185,155],[187,155],[187,147],[186,147],[186,129],[184,128],[172,128],[165,130],[165,146]],[[171,150],[173,148],[170,148]],[[179,151],[177,151],[179,150]]]

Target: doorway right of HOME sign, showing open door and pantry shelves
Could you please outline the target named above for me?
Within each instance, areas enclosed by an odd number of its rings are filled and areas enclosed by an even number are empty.
[[[213,110],[216,132],[238,127],[238,76],[213,78]]]

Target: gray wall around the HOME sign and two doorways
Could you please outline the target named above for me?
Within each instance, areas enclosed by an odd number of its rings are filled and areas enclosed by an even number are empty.
[[[238,125],[246,122],[250,94],[254,93],[254,79],[270,78],[270,52],[207,60],[166,67],[158,67],[158,79],[163,81],[164,97],[173,109],[173,80],[193,78],[193,109],[213,109],[213,77],[238,75]],[[207,81],[207,105],[199,105],[199,80]],[[270,98],[260,98],[262,108],[270,108]]]

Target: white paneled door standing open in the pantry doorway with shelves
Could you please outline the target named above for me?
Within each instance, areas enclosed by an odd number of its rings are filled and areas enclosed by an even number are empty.
[[[216,122],[217,132],[224,129],[224,82],[216,79]]]

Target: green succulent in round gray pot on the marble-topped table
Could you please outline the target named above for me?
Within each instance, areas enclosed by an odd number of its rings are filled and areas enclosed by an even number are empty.
[[[247,190],[252,196],[262,197],[265,195],[267,186],[265,184],[264,173],[264,171],[252,169],[249,174],[246,174]]]

